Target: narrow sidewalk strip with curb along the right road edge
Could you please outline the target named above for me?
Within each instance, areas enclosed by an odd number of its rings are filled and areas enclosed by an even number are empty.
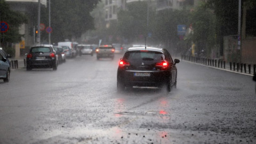
[[[237,73],[237,74],[243,74],[243,75],[248,75],[248,76],[253,76],[253,65],[251,65],[251,73],[249,73],[249,65],[244,65],[242,66],[242,70],[241,70],[241,64],[238,63],[238,69],[237,69],[237,63],[235,63],[235,69],[234,69],[234,63],[231,63],[231,70],[230,70],[230,63],[226,62],[224,63],[222,61],[218,62],[217,61],[200,61],[200,60],[185,60],[185,59],[181,59],[182,61],[186,61],[186,62],[190,62],[190,63],[195,63],[196,65],[201,65],[201,66],[205,66],[205,67],[210,67],[210,68],[215,68],[215,69],[220,69],[220,70],[225,70],[225,71],[229,71],[232,73]],[[215,63],[216,62],[216,63]],[[222,64],[222,65],[221,65]],[[244,66],[246,67],[244,69]]]

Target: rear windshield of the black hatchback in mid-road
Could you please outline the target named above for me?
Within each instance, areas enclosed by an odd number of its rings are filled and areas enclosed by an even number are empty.
[[[124,54],[126,60],[164,60],[164,54],[156,51],[128,51]]]

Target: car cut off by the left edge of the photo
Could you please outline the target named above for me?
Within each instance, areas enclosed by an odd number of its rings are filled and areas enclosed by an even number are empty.
[[[10,64],[3,54],[0,53],[0,79],[3,79],[4,82],[10,81]]]

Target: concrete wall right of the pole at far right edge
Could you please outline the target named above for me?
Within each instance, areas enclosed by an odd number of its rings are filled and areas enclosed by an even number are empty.
[[[243,39],[242,62],[256,64],[256,37]]]

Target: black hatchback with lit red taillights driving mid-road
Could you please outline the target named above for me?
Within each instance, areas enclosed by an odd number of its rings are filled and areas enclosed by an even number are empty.
[[[131,47],[119,61],[117,69],[117,90],[125,87],[171,87],[177,86],[176,63],[166,49],[155,47]]]

